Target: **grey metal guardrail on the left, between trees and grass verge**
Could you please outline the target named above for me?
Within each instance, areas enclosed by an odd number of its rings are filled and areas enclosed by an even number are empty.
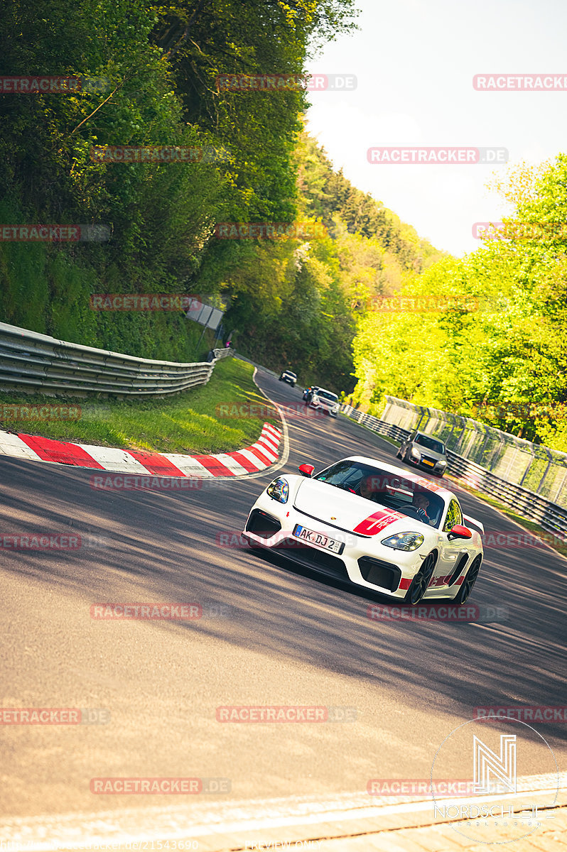
[[[162,396],[206,384],[215,360],[177,364],[109,352],[56,340],[36,331],[0,323],[0,388],[48,394]]]

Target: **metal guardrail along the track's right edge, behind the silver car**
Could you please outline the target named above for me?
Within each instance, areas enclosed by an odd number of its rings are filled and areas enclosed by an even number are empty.
[[[341,406],[341,413],[361,423],[378,435],[387,435],[394,440],[402,441],[410,435],[409,429],[402,429],[394,423],[386,423],[371,414],[356,411],[351,406]],[[493,474],[490,470],[483,468],[480,464],[464,458],[456,452],[447,451],[448,473],[456,475],[462,484],[471,486],[475,491],[495,497],[500,503],[514,509],[518,515],[524,515],[527,520],[538,523],[549,533],[553,533],[562,540],[567,535],[567,509],[552,503],[529,491],[523,486],[506,482],[500,476]]]

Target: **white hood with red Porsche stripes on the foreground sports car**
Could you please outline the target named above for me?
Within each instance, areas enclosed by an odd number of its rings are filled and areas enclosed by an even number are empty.
[[[413,529],[431,531],[432,528],[415,518],[396,512],[395,509],[380,506],[357,494],[318,480],[305,479],[300,483],[293,506],[317,521],[323,521],[348,533],[370,537],[381,533],[385,527],[388,527],[388,533],[391,534]]]

